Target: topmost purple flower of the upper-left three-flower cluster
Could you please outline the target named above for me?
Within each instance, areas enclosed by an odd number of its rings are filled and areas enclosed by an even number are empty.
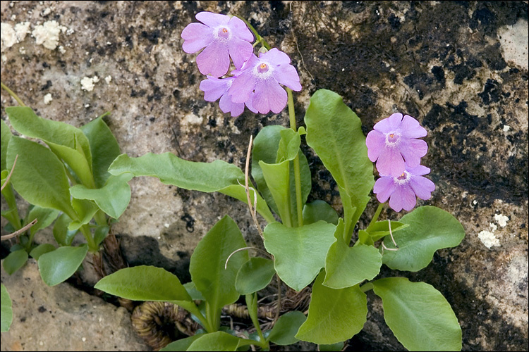
[[[230,57],[235,67],[241,68],[253,54],[253,34],[240,18],[211,12],[200,12],[195,17],[204,24],[190,23],[183,29],[182,48],[188,54],[205,48],[197,56],[202,75],[226,75]]]

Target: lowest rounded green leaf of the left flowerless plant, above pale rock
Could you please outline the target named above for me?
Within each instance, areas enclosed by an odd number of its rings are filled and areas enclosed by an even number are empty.
[[[61,247],[39,257],[39,272],[42,281],[55,286],[71,277],[85,259],[88,247]]]

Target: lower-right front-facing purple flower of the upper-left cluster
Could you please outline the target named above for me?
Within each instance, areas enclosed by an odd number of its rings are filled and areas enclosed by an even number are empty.
[[[286,106],[287,94],[279,84],[296,92],[301,90],[298,72],[290,64],[290,58],[274,48],[260,54],[259,58],[252,54],[238,72],[228,94],[234,103],[246,102],[248,108],[253,106],[259,113],[280,113]]]

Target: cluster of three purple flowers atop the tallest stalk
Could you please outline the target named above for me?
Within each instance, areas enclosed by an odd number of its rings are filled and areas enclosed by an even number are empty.
[[[235,117],[246,106],[253,113],[280,113],[287,94],[280,84],[300,91],[296,68],[287,54],[278,49],[253,53],[253,34],[243,20],[218,13],[200,12],[201,23],[190,23],[182,31],[183,51],[197,56],[198,70],[206,79],[200,82],[206,101],[219,101],[223,113]],[[229,73],[230,58],[235,70]],[[230,77],[224,77],[226,74]]]

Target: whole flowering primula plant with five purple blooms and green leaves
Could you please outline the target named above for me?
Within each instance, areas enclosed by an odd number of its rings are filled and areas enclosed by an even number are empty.
[[[123,154],[109,172],[114,177],[154,176],[164,184],[218,191],[248,203],[267,253],[265,258],[250,258],[260,250],[245,244],[236,222],[226,215],[193,252],[191,282],[183,285],[161,268],[140,266],[104,277],[96,288],[133,300],[168,301],[188,310],[202,329],[173,342],[166,351],[236,351],[249,345],[265,351],[271,343],[299,340],[319,344],[321,350],[339,350],[343,341],[363,329],[370,290],[382,298],[384,320],[408,350],[460,350],[461,327],[437,289],[405,277],[378,278],[382,264],[411,272],[425,268],[435,251],[457,246],[465,235],[446,211],[415,208],[417,197],[430,199],[435,189],[424,177],[430,169],[420,165],[427,152],[420,138],[427,131],[415,118],[394,113],[377,122],[366,139],[358,116],[341,96],[325,89],[312,95],[305,127],[298,128],[292,90],[299,91],[301,85],[288,55],[272,49],[237,17],[202,12],[196,18],[201,23],[191,23],[182,32],[183,50],[193,54],[203,49],[197,65],[206,75],[200,83],[205,100],[220,99],[221,111],[232,116],[245,108],[279,113],[288,104],[290,126],[267,126],[255,141],[250,139],[245,172],[224,161],[197,163],[172,153],[138,158]],[[256,46],[258,55],[253,52]],[[307,158],[300,150],[303,136],[336,181],[343,205],[340,214],[324,201],[307,203],[312,185]],[[255,184],[248,171],[250,152]],[[379,206],[369,225],[357,229],[372,192]],[[379,220],[388,199],[396,212],[415,210],[399,220]],[[312,288],[308,315],[294,310],[276,317],[272,329],[262,329],[257,293],[274,275],[290,292]],[[222,308],[241,295],[255,328],[243,335],[221,327]],[[279,290],[278,314],[280,296]]]

